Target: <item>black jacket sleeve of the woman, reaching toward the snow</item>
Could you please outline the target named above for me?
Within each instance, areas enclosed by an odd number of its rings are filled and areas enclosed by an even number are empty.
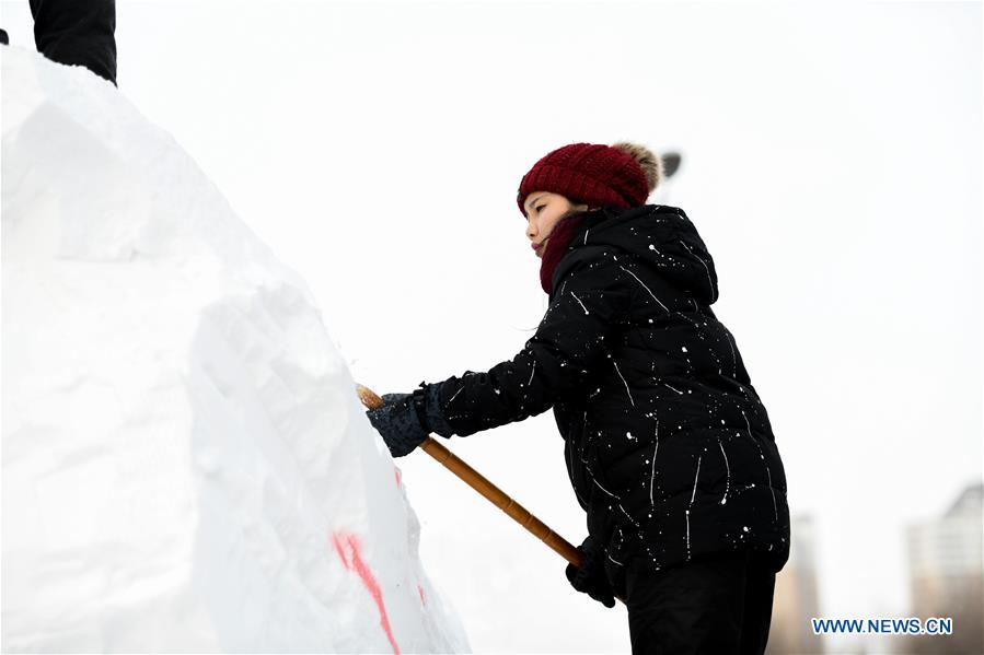
[[[514,358],[428,385],[443,418],[440,426],[431,425],[436,433],[466,436],[536,416],[605,365],[606,342],[628,314],[632,279],[618,260],[623,256],[601,247],[568,257],[577,259],[564,262],[567,272],[557,279],[536,334]]]

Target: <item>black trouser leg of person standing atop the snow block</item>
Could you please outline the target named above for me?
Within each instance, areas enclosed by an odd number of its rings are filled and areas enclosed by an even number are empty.
[[[31,0],[37,51],[116,84],[116,0]]]

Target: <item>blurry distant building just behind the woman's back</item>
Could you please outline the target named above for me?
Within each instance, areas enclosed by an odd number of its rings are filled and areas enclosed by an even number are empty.
[[[789,561],[776,575],[766,655],[823,653],[823,640],[810,623],[820,616],[813,519],[792,517],[790,531]]]

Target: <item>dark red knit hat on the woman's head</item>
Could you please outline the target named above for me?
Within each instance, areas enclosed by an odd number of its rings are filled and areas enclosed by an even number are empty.
[[[560,194],[589,207],[640,207],[656,187],[650,187],[650,182],[658,180],[648,180],[633,154],[621,148],[571,143],[530,168],[520,182],[516,201],[523,215],[523,201],[533,191]]]

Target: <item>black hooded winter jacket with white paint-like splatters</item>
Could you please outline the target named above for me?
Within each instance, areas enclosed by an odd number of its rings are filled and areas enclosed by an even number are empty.
[[[429,389],[468,435],[551,407],[610,575],[753,548],[789,554],[786,476],[738,346],[715,317],[714,261],[674,207],[577,220],[536,334],[512,360]]]

